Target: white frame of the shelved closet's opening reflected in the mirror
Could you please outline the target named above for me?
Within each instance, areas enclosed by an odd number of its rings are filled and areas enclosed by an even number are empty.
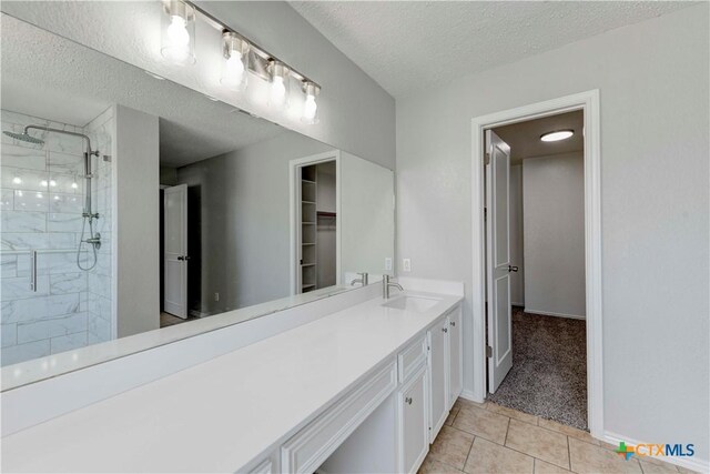
[[[298,265],[296,265],[296,256],[298,255],[298,230],[297,224],[301,216],[301,196],[296,196],[296,192],[301,190],[298,170],[303,167],[310,167],[312,164],[325,163],[328,161],[335,161],[335,213],[338,218],[343,215],[341,213],[341,151],[332,150],[324,153],[312,154],[310,157],[297,158],[288,161],[288,233],[290,233],[290,249],[291,249],[291,295],[298,294]],[[297,198],[297,199],[296,199]],[[341,228],[338,224],[335,228],[335,284],[341,284]]]

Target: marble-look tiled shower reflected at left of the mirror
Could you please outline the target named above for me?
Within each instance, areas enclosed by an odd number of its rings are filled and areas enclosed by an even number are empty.
[[[83,210],[83,143],[32,131],[44,144],[2,135],[0,150],[2,365],[57,354],[114,337],[112,260],[113,108],[85,127],[1,111],[2,130],[30,123],[85,133],[93,160],[92,200],[102,245],[90,271],[77,266]],[[104,158],[105,155],[105,158]],[[37,291],[30,290],[30,250],[38,251]],[[89,252],[82,259],[90,259]]]

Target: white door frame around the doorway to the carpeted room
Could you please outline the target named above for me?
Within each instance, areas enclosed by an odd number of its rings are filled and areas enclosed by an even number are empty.
[[[602,290],[601,290],[601,141],[599,90],[495,112],[471,120],[471,255],[473,255],[473,399],[486,397],[486,260],[484,205],[485,131],[558,113],[585,114],[585,276],[587,306],[587,420],[595,437],[604,435]]]

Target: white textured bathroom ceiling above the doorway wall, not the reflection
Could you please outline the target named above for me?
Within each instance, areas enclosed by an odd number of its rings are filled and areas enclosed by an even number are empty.
[[[293,1],[396,99],[690,2]]]

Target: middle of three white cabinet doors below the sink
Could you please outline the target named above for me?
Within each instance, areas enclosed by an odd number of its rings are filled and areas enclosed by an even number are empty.
[[[448,414],[448,322],[445,317],[429,330],[430,443]]]

